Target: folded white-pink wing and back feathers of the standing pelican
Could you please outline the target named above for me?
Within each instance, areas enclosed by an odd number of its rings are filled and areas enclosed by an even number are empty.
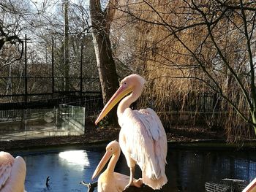
[[[127,108],[119,123],[121,132],[126,137],[127,153],[130,153],[140,169],[151,180],[166,178],[167,139],[156,112],[150,108],[139,111]]]

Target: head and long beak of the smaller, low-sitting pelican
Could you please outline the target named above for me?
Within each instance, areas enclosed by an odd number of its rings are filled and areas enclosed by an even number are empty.
[[[101,172],[101,170],[103,169],[105,164],[107,164],[108,160],[110,159],[110,157],[113,154],[120,155],[120,146],[117,141],[112,141],[107,145],[106,153],[102,157],[102,159],[99,161],[99,164],[98,164],[97,168],[95,169],[94,174],[92,174],[91,180],[94,180],[94,178],[97,177],[99,172]]]

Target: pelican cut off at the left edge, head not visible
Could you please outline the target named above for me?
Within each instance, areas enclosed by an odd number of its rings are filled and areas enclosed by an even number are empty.
[[[22,157],[14,158],[10,153],[0,151],[0,191],[23,192],[26,177],[26,163]]]

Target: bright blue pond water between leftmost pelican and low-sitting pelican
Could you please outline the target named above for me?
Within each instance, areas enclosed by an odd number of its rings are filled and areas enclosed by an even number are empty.
[[[69,150],[53,153],[23,155],[27,173],[28,192],[87,191],[80,181],[91,183],[91,175],[102,157],[102,150]],[[46,178],[50,176],[49,188]]]

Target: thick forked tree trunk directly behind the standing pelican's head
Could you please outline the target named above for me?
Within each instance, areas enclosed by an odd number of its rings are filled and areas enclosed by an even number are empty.
[[[105,12],[102,12],[99,0],[90,0],[90,15],[92,25],[92,37],[97,58],[99,80],[102,88],[103,103],[106,104],[118,88],[116,64],[112,56],[109,38],[110,23],[113,19],[113,3],[108,2]],[[116,110],[112,110],[108,118],[115,123]]]

